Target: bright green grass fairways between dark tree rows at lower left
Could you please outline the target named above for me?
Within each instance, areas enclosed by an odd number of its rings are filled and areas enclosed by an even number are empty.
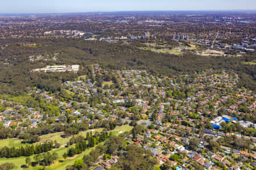
[[[114,130],[112,130],[112,132],[113,132],[113,135],[119,135],[119,134],[121,134],[121,133],[123,133],[125,131],[130,131],[132,128],[133,128],[132,126],[123,125],[123,126],[119,126],[119,127],[115,128]],[[88,131],[93,131],[93,134],[94,134],[96,131],[100,132],[102,130],[103,129],[101,128],[101,129],[94,129],[94,130],[88,130]],[[86,132],[87,131],[82,131],[82,132],[79,133],[79,135],[86,136]],[[44,141],[46,139],[52,139],[54,141],[56,139],[56,141],[63,143],[63,145],[69,141],[70,137],[69,138],[61,138],[60,135],[61,135],[61,133],[55,133],[55,134],[43,135],[40,138],[41,138],[41,141]],[[15,139],[8,139],[8,140],[9,140],[9,142],[5,141],[5,142],[3,142],[5,144],[1,143],[1,145],[9,145],[9,143],[12,143],[12,142],[10,142],[11,140],[14,140],[14,143],[15,143]],[[2,140],[2,141],[4,141],[4,140]],[[19,146],[18,143],[10,144],[10,145],[17,145],[17,146]],[[100,144],[103,144],[103,143],[104,142],[102,142]],[[70,147],[73,147],[73,146],[70,146]],[[75,158],[65,160],[65,162],[62,162],[62,160],[63,160],[62,155],[64,154],[64,152],[67,152],[68,148],[60,147],[60,148],[58,148],[56,150],[52,150],[50,152],[56,152],[59,155],[59,159],[57,159],[54,164],[46,167],[46,169],[48,169],[48,170],[53,170],[53,169],[54,170],[61,170],[61,169],[65,169],[65,167],[67,165],[72,165],[73,163],[75,163],[75,161],[77,159],[82,159],[82,157],[85,154],[89,154],[89,152],[92,149],[93,148],[89,148],[88,150],[85,150],[80,155],[76,156]],[[34,161],[34,159],[33,159],[34,156],[35,155],[30,156],[32,161]],[[10,159],[1,158],[0,159],[0,164],[6,163],[6,162],[14,163],[15,164],[15,168],[14,169],[23,169],[23,168],[21,168],[21,166],[26,163],[26,157],[23,156],[23,157],[19,157],[19,158],[10,158]],[[39,169],[42,169],[42,168],[43,168],[42,166],[38,166],[38,167],[30,167],[28,169],[39,170]]]

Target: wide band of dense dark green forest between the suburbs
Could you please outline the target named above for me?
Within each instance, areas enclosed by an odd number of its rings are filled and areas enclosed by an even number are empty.
[[[35,43],[35,46],[24,43]],[[191,74],[205,69],[225,69],[240,75],[240,87],[256,90],[256,67],[242,62],[255,60],[256,56],[212,57],[185,53],[183,56],[155,53],[138,49],[130,44],[110,44],[82,39],[5,39],[0,51],[0,94],[20,95],[38,87],[51,92],[61,92],[61,83],[91,72],[90,63],[104,69],[145,69],[151,74],[175,76]],[[35,54],[60,53],[56,60],[30,61]],[[35,73],[32,69],[47,65],[79,64],[79,73]]]

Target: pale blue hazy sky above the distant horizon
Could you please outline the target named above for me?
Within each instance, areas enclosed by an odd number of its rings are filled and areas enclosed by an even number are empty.
[[[7,0],[0,13],[256,10],[255,0]]]

